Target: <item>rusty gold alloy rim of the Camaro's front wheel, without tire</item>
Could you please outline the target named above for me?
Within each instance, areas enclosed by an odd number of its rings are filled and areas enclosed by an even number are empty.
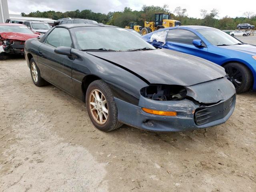
[[[108,104],[106,97],[100,90],[94,89],[89,96],[90,112],[98,124],[104,124],[108,120]]]

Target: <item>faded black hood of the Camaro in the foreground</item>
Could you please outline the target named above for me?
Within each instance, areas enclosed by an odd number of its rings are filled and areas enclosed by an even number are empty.
[[[224,68],[217,64],[167,49],[87,53],[116,64],[150,84],[190,86],[226,75]]]

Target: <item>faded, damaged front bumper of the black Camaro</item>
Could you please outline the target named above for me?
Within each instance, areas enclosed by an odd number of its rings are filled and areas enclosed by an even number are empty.
[[[191,100],[159,101],[141,96],[138,106],[115,98],[118,120],[144,130],[177,132],[222,124],[234,112],[236,94],[234,86],[226,78],[190,86],[188,90],[188,94],[194,96]],[[154,115],[142,108],[177,112],[177,115]]]

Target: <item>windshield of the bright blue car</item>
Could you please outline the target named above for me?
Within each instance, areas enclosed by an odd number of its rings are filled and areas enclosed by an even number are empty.
[[[241,42],[236,38],[218,29],[198,29],[197,31],[212,45],[220,46],[241,44]]]

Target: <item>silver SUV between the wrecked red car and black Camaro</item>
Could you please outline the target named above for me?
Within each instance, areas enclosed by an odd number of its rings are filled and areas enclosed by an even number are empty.
[[[32,31],[45,34],[51,26],[43,21],[27,20],[23,22],[24,25],[28,26]]]

